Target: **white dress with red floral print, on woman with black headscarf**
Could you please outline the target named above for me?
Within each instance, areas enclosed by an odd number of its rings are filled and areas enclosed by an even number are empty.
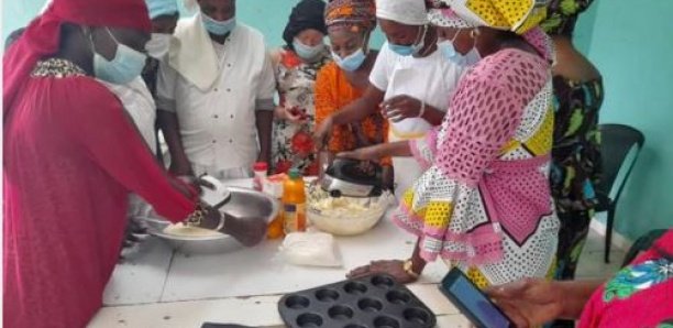
[[[300,123],[276,120],[273,131],[272,166],[276,173],[290,167],[305,175],[318,175],[318,158],[313,151],[312,133],[316,116],[313,88],[318,72],[331,57],[324,53],[313,63],[304,63],[295,52],[282,50],[276,67],[276,81],[280,106],[305,117]]]

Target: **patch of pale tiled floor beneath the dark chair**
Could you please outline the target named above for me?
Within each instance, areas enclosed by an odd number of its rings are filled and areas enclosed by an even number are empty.
[[[594,230],[589,230],[588,240],[584,247],[580,263],[577,264],[577,278],[600,278],[609,277],[621,266],[627,250],[618,249],[613,245],[610,249],[610,263],[603,261],[605,249],[604,237]]]

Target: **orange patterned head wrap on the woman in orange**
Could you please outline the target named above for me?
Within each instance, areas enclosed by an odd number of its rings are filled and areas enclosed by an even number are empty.
[[[372,31],[376,28],[376,4],[374,0],[332,0],[324,12],[324,22],[330,30]]]

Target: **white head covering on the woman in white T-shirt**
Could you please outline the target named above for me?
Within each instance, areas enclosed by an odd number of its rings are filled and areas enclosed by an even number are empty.
[[[376,17],[406,25],[428,24],[423,0],[376,0]]]

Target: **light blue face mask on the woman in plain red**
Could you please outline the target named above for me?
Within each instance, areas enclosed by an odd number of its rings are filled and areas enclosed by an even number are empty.
[[[93,75],[96,75],[97,78],[111,84],[128,84],[141,75],[143,68],[145,67],[147,56],[119,43],[110,30],[106,30],[117,43],[117,53],[114,54],[114,58],[112,58],[112,61],[106,59],[106,57],[96,52],[93,40],[91,39],[91,34],[89,34],[91,51],[93,52]]]

